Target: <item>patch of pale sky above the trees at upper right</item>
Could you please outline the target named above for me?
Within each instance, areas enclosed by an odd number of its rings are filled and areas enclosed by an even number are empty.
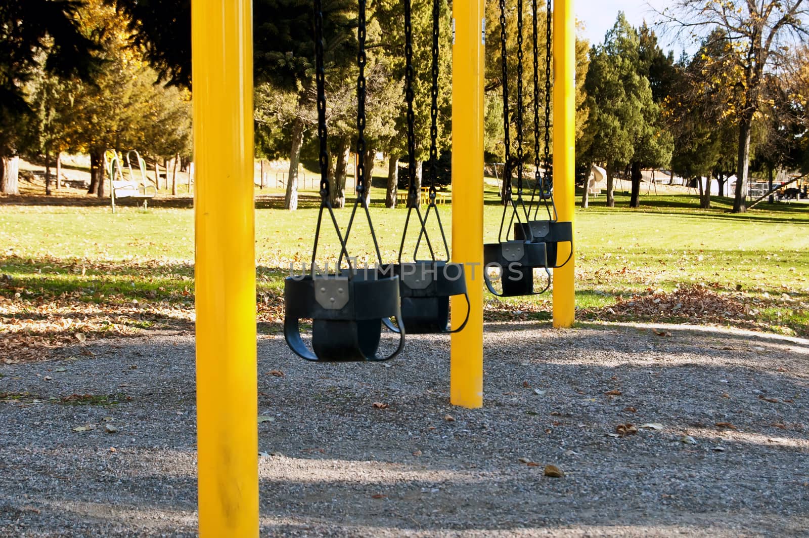
[[[665,0],[574,0],[574,10],[579,23],[584,24],[583,31],[579,31],[582,36],[590,41],[591,45],[604,41],[604,34],[615,24],[618,11],[623,11],[626,19],[635,28],[639,27],[644,19],[649,26],[659,19],[659,15],[654,13],[652,6],[659,9],[670,6],[671,2]],[[654,27],[653,27],[654,28]],[[658,34],[660,45],[663,49],[674,49],[675,57],[680,55],[680,50],[684,46],[666,35],[660,28],[654,28]]]

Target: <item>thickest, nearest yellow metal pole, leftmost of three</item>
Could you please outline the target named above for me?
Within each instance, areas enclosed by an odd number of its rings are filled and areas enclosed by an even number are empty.
[[[252,2],[193,0],[200,536],[258,536]]]

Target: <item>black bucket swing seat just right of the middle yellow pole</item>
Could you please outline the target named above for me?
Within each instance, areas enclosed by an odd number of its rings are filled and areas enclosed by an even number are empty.
[[[486,288],[498,297],[518,297],[534,295],[534,269],[547,267],[547,254],[544,243],[534,243],[524,239],[486,243],[483,246],[483,280]],[[500,267],[502,292],[494,289],[489,278],[489,267]]]

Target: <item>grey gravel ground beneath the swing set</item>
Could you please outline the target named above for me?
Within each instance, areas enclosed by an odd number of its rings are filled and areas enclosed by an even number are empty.
[[[662,329],[491,324],[477,410],[447,337],[312,365],[261,336],[262,535],[809,536],[809,340]],[[193,535],[193,365],[155,332],[0,365],[0,536]]]

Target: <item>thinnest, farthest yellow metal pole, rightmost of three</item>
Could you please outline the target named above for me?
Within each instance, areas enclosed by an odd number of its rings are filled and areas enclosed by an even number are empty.
[[[553,199],[559,220],[574,222],[576,27],[573,0],[553,6]],[[574,223],[575,237],[575,223]],[[575,245],[575,243],[574,243]],[[570,254],[561,246],[558,256]],[[576,314],[575,253],[564,267],[553,270],[553,327],[573,327]]]

